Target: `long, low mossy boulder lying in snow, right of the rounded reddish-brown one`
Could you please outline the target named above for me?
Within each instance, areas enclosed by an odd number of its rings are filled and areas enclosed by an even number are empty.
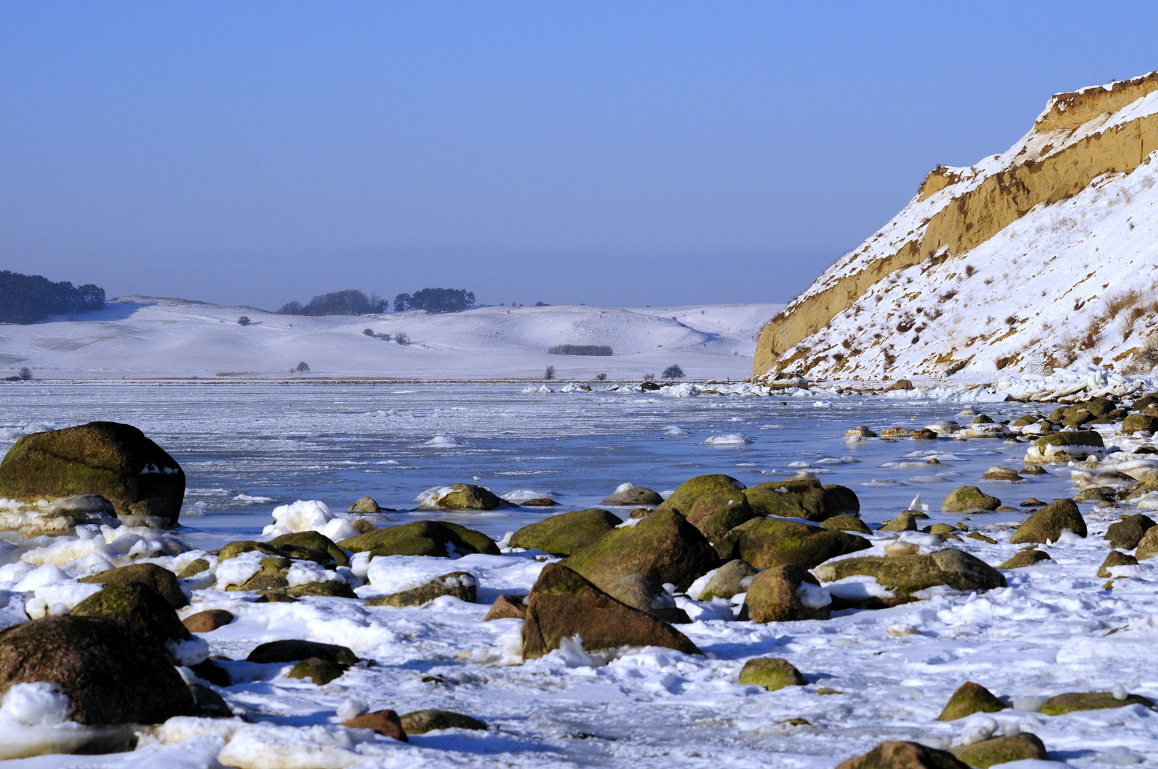
[[[1005,587],[999,571],[963,550],[946,549],[917,556],[864,556],[826,563],[815,569],[822,583],[866,574],[901,595],[911,595],[935,585],[959,591],[987,591]]]

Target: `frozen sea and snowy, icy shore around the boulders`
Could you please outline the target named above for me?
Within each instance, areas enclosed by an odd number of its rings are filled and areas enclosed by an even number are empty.
[[[400,511],[376,517],[379,525],[444,517],[501,540],[545,515],[599,505],[624,482],[667,491],[708,473],[755,485],[805,469],[824,483],[853,489],[871,526],[893,518],[918,493],[930,508],[926,522],[957,522],[960,514],[939,510],[958,485],[979,485],[1014,506],[1029,497],[1048,501],[1076,492],[1065,466],[1025,483],[981,481],[990,466],[1019,468],[1024,442],[845,441],[845,430],[856,425],[919,427],[961,411],[919,397],[815,391],[673,398],[599,388],[523,393],[519,386],[485,384],[166,382],[32,383],[5,388],[2,403],[5,449],[23,432],[94,419],[140,427],[184,468],[188,492],[178,536],[205,550],[259,535],[276,505],[296,499],[342,511],[371,496]],[[1017,403],[975,409],[995,420],[1026,411]],[[720,437],[728,438],[711,440]],[[929,463],[931,457],[938,463]],[[454,515],[413,510],[425,489],[459,482],[513,498],[549,496],[560,506]],[[279,666],[239,668],[243,681],[220,689],[252,722],[234,723],[235,733],[207,719],[173,725],[146,737],[133,754],[78,756],[67,766],[211,767],[221,755],[229,766],[271,768],[714,769],[723,763],[829,769],[886,739],[950,746],[1018,731],[1036,733],[1053,760],[1071,766],[1151,763],[1158,761],[1158,720],[1141,705],[1061,717],[1032,712],[1063,691],[1126,687],[1158,700],[1151,662],[1158,644],[1158,570],[1150,562],[1120,567],[1113,589],[1095,576],[1109,549],[1101,539],[1106,527],[1135,511],[1090,504],[1082,511],[1089,537],[1041,545],[1051,561],[1006,571],[1010,586],[984,594],[933,588],[894,609],[767,625],[736,622],[727,606],[679,599],[695,620],[680,629],[703,657],[647,649],[608,660],[572,651],[519,664],[520,621],[483,623],[482,617],[498,594],[525,593],[534,583],[542,562],[529,554],[468,556],[453,566],[444,559],[376,558],[374,564],[383,563],[358,588],[365,598],[462,569],[479,579],[479,605],[455,599],[404,609],[366,608],[344,599],[255,605],[237,593],[197,589],[183,614],[221,607],[237,616],[204,636],[215,654],[243,659],[258,643],[295,637],[349,645],[376,665],[351,669],[324,687],[286,679]],[[997,543],[951,544],[997,565],[1018,551],[1007,540],[1024,518],[1021,512],[975,514],[967,525]],[[874,534],[868,552],[896,536]],[[17,545],[0,552],[8,561],[46,544],[10,533],[3,539]],[[767,656],[791,660],[808,684],[774,693],[739,686],[743,662]],[[950,694],[966,680],[1014,706],[937,722]],[[435,732],[409,745],[384,738],[347,744],[334,724],[336,710],[350,701],[398,712],[444,708],[481,718],[490,728]],[[321,755],[329,756],[328,763]],[[63,766],[59,761],[43,756],[12,766]]]

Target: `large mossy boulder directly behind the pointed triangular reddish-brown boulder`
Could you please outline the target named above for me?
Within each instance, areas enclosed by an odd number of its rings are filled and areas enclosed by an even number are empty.
[[[683,515],[660,507],[638,520],[608,532],[560,563],[600,587],[628,574],[647,574],[680,589],[719,565],[716,550]]]

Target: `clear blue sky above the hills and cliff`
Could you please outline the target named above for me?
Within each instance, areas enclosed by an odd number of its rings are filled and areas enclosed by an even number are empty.
[[[1158,3],[6,2],[0,269],[276,308],[785,301]]]

